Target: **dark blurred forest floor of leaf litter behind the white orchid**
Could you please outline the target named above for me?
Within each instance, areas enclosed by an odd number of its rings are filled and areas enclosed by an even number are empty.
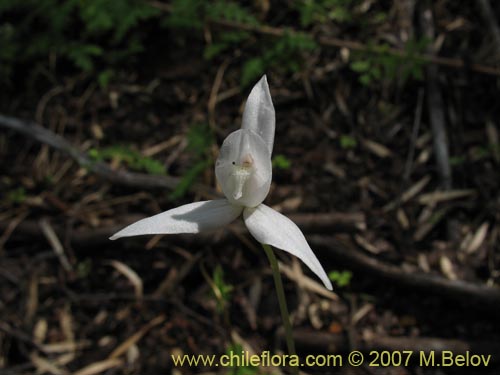
[[[289,373],[172,362],[285,352],[239,221],[108,240],[221,195],[218,147],[263,74],[266,204],[334,283],[277,252],[299,353],[492,356],[301,370],[498,373],[499,19],[488,0],[0,0],[0,374]]]

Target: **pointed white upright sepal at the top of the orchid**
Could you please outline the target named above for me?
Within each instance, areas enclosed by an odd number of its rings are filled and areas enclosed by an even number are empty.
[[[255,84],[248,96],[243,111],[242,129],[252,130],[262,137],[269,150],[269,155],[273,153],[274,128],[276,117],[274,114],[273,101],[269,92],[267,78],[264,75]]]

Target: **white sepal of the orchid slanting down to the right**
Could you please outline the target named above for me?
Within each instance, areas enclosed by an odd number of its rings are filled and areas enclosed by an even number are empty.
[[[300,258],[332,290],[332,283],[299,227],[286,216],[260,204],[243,210],[245,224],[257,241],[288,251]]]

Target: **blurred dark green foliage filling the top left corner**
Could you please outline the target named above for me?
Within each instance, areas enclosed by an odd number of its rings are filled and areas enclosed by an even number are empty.
[[[16,67],[46,68],[54,58],[97,77],[142,51],[137,26],[159,12],[139,0],[7,0],[0,14],[0,81],[9,82]]]

